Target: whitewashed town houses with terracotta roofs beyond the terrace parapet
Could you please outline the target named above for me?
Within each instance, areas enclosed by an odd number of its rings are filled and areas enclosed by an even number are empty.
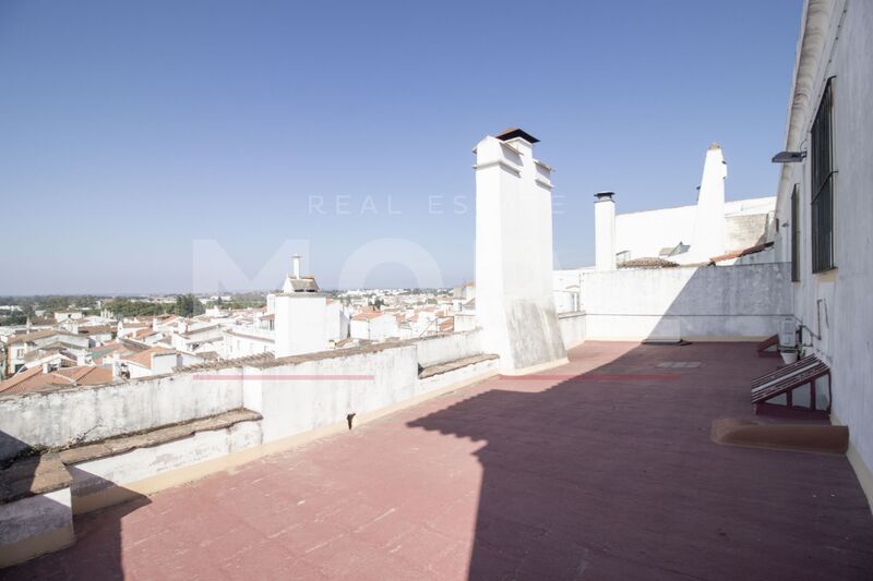
[[[188,317],[116,316],[98,301],[99,314],[91,314],[97,308],[59,310],[48,319],[0,327],[0,395],[13,386],[14,392],[24,392],[86,385],[85,380],[97,378],[136,379],[189,365],[396,341],[452,332],[455,327],[447,290],[322,292],[313,277],[300,274],[299,256],[282,281],[282,292],[267,294],[265,306],[227,308],[231,295],[202,299],[208,305],[205,312]],[[176,296],[141,302],[178,303]],[[7,306],[3,311],[9,313],[21,310]],[[94,367],[100,373],[85,376],[69,371]],[[57,373],[71,379],[61,380]]]

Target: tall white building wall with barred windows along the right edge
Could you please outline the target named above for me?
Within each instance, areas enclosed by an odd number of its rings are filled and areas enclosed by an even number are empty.
[[[873,501],[873,2],[810,0],[804,5],[786,150],[806,150],[833,77],[834,256],[812,273],[810,157],[779,180],[777,253],[791,257],[791,193],[800,194],[800,281],[792,285],[803,342],[830,365],[834,420],[849,426],[849,457]]]

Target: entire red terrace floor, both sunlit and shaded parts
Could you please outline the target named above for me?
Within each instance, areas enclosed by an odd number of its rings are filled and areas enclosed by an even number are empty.
[[[73,547],[0,578],[873,579],[844,457],[709,441],[774,366],[751,343],[586,343],[80,518]]]

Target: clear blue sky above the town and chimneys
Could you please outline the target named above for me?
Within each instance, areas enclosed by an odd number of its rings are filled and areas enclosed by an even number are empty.
[[[470,149],[506,126],[557,168],[555,265],[589,265],[593,194],[692,204],[710,142],[729,199],[774,194],[800,12],[5,0],[0,294],[203,290],[210,268],[261,286],[289,247],[325,288],[416,285],[431,259],[456,285],[475,268]]]

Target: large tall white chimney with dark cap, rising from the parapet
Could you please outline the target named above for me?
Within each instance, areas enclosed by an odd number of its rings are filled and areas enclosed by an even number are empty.
[[[503,373],[566,361],[552,296],[551,168],[515,130],[476,153],[476,316]]]

